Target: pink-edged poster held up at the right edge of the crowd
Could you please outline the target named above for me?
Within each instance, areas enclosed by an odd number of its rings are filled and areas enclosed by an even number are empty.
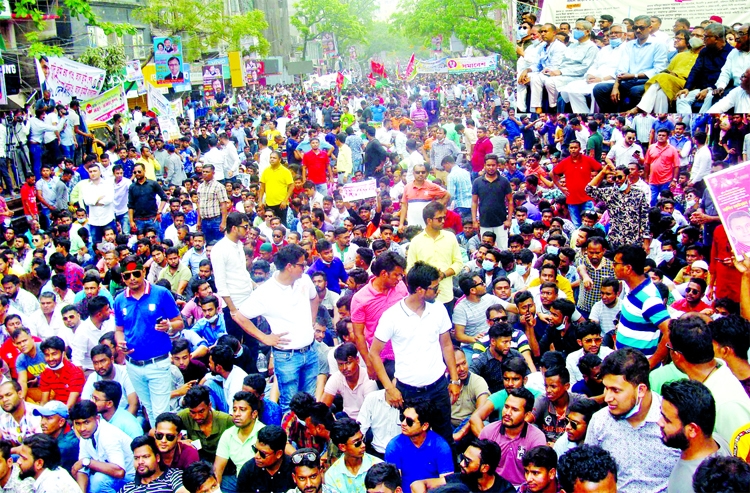
[[[735,256],[750,257],[750,161],[711,173],[703,182]]]

